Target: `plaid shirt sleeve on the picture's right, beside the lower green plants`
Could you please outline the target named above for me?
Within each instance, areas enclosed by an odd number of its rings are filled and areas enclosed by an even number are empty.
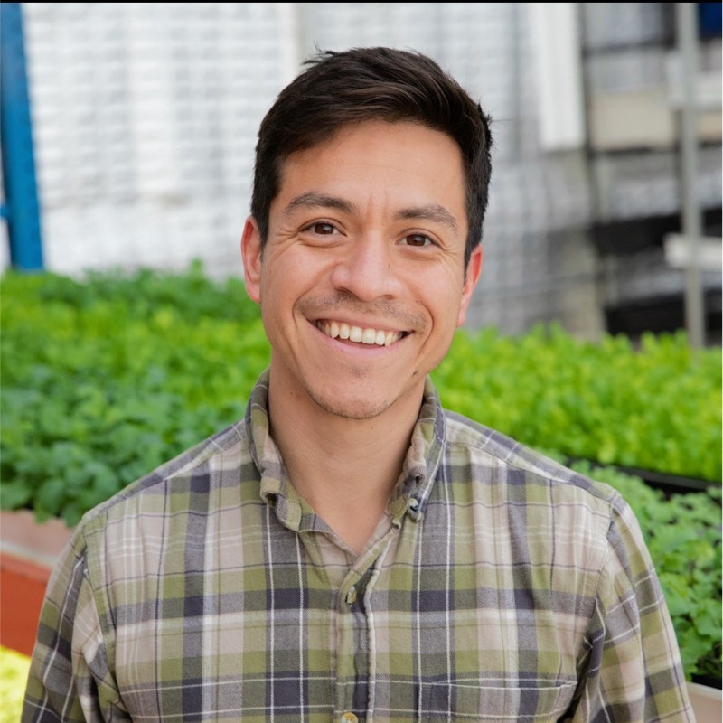
[[[694,723],[662,587],[634,513],[619,497],[587,645],[573,721]]]

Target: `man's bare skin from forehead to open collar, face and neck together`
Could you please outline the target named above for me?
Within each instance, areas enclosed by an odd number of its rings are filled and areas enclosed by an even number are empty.
[[[467,225],[459,147],[383,120],[296,151],[268,238],[247,221],[247,289],[273,350],[271,434],[296,492],[357,553],[479,277],[479,246],[465,268]]]

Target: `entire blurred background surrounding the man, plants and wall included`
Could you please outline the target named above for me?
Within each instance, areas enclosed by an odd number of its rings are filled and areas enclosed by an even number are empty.
[[[262,117],[315,49],[382,44],[493,117],[446,406],[624,494],[720,719],[720,3],[2,3],[0,723],[70,527],[268,363],[239,253]]]

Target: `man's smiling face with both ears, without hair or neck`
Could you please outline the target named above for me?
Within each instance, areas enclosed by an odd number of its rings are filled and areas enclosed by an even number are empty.
[[[479,277],[466,236],[462,156],[443,133],[367,121],[292,155],[263,254],[253,219],[242,241],[269,393],[344,418],[416,415]]]

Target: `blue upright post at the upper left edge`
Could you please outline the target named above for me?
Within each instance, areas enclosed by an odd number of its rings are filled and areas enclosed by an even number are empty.
[[[21,3],[0,5],[0,144],[5,203],[3,217],[14,268],[42,269],[40,204],[35,180]]]

